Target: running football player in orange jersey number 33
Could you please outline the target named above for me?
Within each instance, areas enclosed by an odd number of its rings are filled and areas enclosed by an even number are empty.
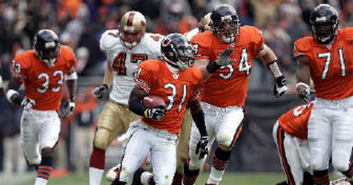
[[[23,108],[21,117],[21,146],[28,165],[36,166],[35,185],[47,184],[53,169],[53,149],[59,141],[60,101],[64,80],[70,99],[63,116],[75,107],[77,74],[73,50],[60,45],[56,33],[49,29],[38,31],[33,50],[25,51],[12,60],[12,78],[6,97]],[[17,92],[24,84],[25,97]]]

